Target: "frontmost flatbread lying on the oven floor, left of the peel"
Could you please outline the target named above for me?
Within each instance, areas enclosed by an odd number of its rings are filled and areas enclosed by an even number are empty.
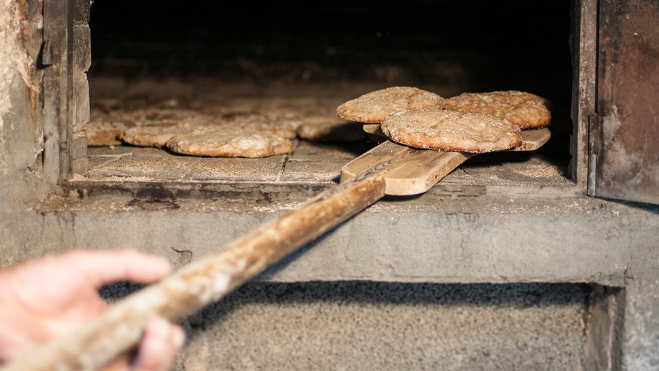
[[[291,141],[278,135],[249,129],[217,129],[180,134],[167,141],[175,153],[213,157],[266,157],[288,153]]]

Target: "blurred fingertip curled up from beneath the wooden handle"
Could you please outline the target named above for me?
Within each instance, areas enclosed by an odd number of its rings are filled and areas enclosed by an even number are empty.
[[[144,328],[133,371],[166,371],[185,342],[181,326],[171,324],[162,317],[151,319]]]

